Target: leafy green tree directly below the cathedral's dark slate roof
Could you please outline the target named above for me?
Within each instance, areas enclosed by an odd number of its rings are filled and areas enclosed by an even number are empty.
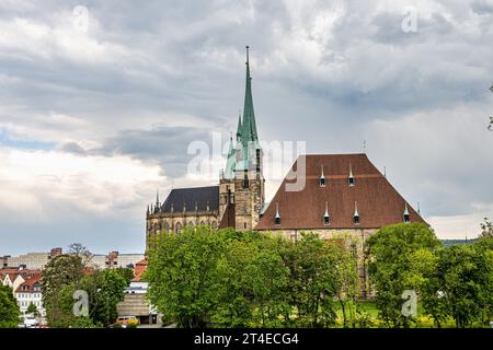
[[[223,288],[218,264],[225,246],[223,234],[208,226],[158,235],[146,271],[151,304],[180,327],[208,326]]]

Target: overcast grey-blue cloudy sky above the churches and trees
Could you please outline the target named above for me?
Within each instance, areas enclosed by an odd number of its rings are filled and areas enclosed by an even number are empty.
[[[187,151],[234,131],[245,45],[262,140],[366,140],[440,237],[475,236],[493,217],[492,43],[493,0],[1,0],[0,255],[144,252],[157,188],[217,183]]]

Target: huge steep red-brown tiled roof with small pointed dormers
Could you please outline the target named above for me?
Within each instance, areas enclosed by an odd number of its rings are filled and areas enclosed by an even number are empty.
[[[305,188],[286,191],[283,180],[279,189],[256,225],[256,230],[303,230],[303,229],[379,229],[403,222],[404,198],[390,185],[375,167],[366,154],[309,154],[306,155]],[[298,158],[293,170],[296,171]],[[355,186],[348,185],[349,163]],[[301,164],[301,163],[300,163]],[[325,187],[319,179],[321,168]],[[330,225],[323,224],[325,201]],[[355,202],[359,213],[359,224],[353,222]],[[280,224],[275,224],[276,203],[279,208]],[[424,222],[408,203],[411,222]]]

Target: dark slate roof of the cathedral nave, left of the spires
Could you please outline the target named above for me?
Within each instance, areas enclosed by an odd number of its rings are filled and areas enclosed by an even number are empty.
[[[171,205],[175,212],[183,211],[183,203],[186,211],[195,211],[195,202],[199,211],[205,211],[209,202],[209,210],[219,209],[219,186],[175,188],[168,195],[167,200],[161,207],[163,212],[171,212]]]

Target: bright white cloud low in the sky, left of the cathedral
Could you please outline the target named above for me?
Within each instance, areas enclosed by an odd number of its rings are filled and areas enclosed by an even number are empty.
[[[165,180],[159,166],[127,156],[0,148],[0,211],[28,222],[80,213],[140,219],[142,202]]]

